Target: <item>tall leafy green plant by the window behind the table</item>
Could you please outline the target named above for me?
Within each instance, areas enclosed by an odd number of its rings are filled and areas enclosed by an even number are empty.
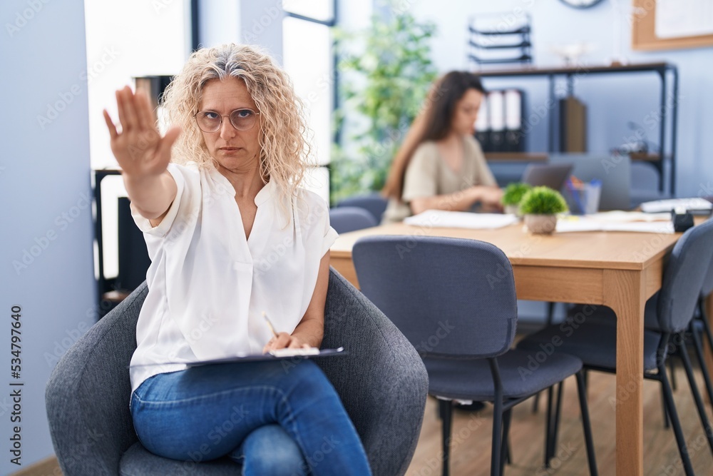
[[[391,160],[436,79],[429,57],[435,26],[394,5],[390,19],[374,16],[366,31],[335,32],[339,73],[352,79],[340,83],[335,128],[341,131],[352,111],[366,121],[332,150],[332,202],[384,186]],[[353,54],[355,49],[361,54]]]

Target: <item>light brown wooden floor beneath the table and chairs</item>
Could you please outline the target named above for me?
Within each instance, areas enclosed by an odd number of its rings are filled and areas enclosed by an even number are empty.
[[[684,437],[697,475],[713,475],[713,457],[700,423],[682,365],[677,365],[678,390],[674,400],[682,420]],[[697,373],[699,376],[699,373]],[[593,425],[593,438],[599,474],[615,475],[615,375],[590,372],[588,402]],[[699,388],[703,388],[699,379]],[[545,395],[543,395],[544,397]],[[706,399],[707,400],[707,399]],[[429,397],[419,445],[407,476],[441,475],[441,422],[436,400]],[[540,398],[540,409],[532,412],[533,399],[513,409],[511,423],[511,465],[505,476],[588,475],[587,452],[580,421],[577,383],[565,381],[558,450],[550,469],[543,467],[545,445],[546,398]],[[709,419],[711,406],[707,405]],[[453,416],[451,476],[490,474],[493,407],[481,412],[456,410]],[[682,475],[678,447],[673,431],[663,426],[660,384],[644,382],[644,468],[645,475]]]

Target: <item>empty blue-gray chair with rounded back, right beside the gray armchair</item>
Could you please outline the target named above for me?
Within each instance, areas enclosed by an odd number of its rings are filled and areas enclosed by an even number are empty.
[[[361,291],[424,359],[443,423],[444,476],[453,400],[493,402],[491,475],[500,475],[512,408],[570,375],[577,376],[590,473],[597,474],[581,361],[560,353],[523,373],[530,353],[510,350],[517,298],[500,249],[458,238],[373,236],[356,241],[352,259]]]

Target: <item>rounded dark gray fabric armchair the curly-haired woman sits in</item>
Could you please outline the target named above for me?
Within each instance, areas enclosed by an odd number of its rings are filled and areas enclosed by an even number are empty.
[[[129,411],[128,363],[148,288],[143,283],[70,348],[54,368],[46,405],[63,473],[235,475],[235,463],[158,457],[137,440]],[[317,359],[342,397],[374,475],[403,475],[419,440],[429,381],[416,350],[336,271],[330,270],[324,348],[349,354]]]

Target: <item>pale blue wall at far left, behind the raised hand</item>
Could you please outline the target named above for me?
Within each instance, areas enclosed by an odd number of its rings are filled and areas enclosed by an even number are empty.
[[[96,320],[83,2],[0,3],[0,473],[52,455],[44,391],[56,359]],[[21,376],[11,378],[11,307]],[[48,359],[48,360],[46,360]],[[22,382],[11,423],[9,383]],[[21,428],[21,466],[10,462]]]

